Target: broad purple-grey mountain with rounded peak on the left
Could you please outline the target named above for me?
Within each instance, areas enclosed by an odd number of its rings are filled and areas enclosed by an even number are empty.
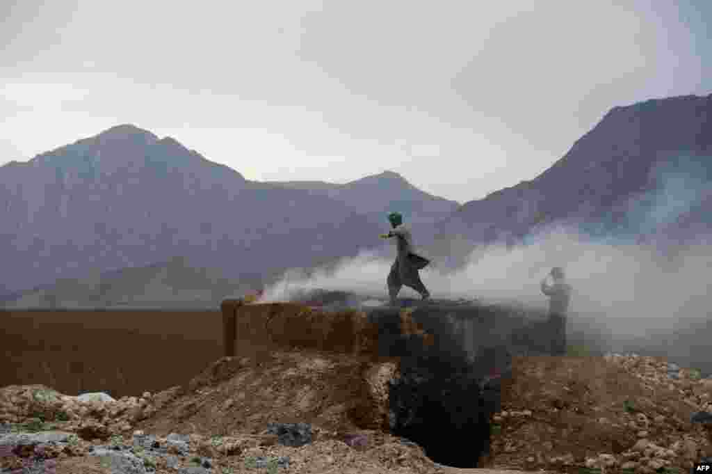
[[[0,167],[0,295],[183,255],[233,280],[382,242],[340,200],[251,182],[133,125]]]

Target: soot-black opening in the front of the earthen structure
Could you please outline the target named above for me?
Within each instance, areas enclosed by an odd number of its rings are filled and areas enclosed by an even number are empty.
[[[389,425],[421,445],[436,463],[476,468],[490,450],[490,418],[501,402],[501,379],[511,371],[506,346],[481,346],[473,357],[445,331],[425,346],[399,334],[399,309],[380,308],[379,352],[399,356],[399,378],[389,383]]]

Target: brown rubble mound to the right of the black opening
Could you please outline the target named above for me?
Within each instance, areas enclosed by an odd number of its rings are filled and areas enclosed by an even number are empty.
[[[641,356],[515,358],[493,417],[493,462],[566,472],[690,468],[712,453],[708,433],[690,423],[691,413],[712,408],[712,380],[670,365]]]

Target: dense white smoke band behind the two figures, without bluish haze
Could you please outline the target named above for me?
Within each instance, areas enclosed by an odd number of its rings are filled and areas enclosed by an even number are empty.
[[[288,301],[312,289],[386,297],[391,264],[362,252],[332,270],[288,272],[262,301]],[[703,241],[667,257],[653,245],[594,242],[556,228],[511,248],[477,247],[459,272],[426,268],[421,276],[436,299],[509,301],[543,309],[548,300],[540,282],[552,267],[563,267],[574,288],[572,318],[595,321],[614,334],[644,336],[705,319],[712,311],[712,247]],[[417,293],[404,287],[399,296]]]

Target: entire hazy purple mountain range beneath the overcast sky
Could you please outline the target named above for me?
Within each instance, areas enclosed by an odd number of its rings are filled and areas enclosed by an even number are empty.
[[[204,167],[212,162],[134,125],[105,133],[0,168],[0,258],[21,269],[0,282],[0,295],[175,254],[235,281],[315,267],[384,249],[376,235],[392,210],[404,211],[436,260],[552,225],[631,239],[712,233],[712,94],[614,107],[538,176],[463,205],[430,199],[392,171],[344,184],[256,182]],[[96,143],[114,143],[108,158],[120,155],[123,166],[95,172]],[[23,272],[33,276],[20,284]]]

